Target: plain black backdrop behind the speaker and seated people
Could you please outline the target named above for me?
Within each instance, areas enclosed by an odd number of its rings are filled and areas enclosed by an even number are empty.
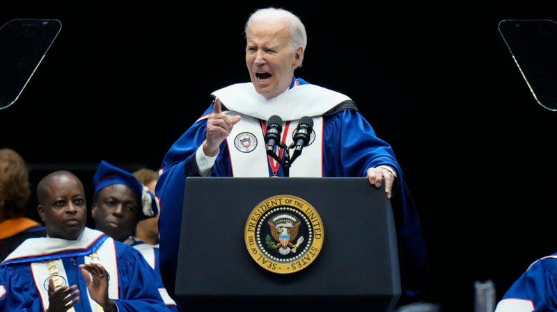
[[[56,18],[62,29],[17,102],[0,110],[0,147],[24,156],[34,185],[65,168],[90,188],[101,159],[157,169],[210,92],[249,81],[249,13],[281,6],[308,32],[297,76],[354,99],[405,170],[431,267],[419,299],[473,311],[475,281],[494,281],[500,299],[557,249],[557,113],[535,101],[497,28],[556,20],[554,8],[238,2],[3,3],[0,23]]]

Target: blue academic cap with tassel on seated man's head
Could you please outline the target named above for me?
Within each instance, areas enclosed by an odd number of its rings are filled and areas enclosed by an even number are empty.
[[[149,192],[149,188],[144,186],[133,174],[127,172],[115,165],[111,165],[106,161],[100,161],[97,172],[93,176],[93,184],[95,185],[95,195],[97,192],[111,186],[113,184],[123,184],[131,188],[141,199],[141,220],[148,217],[155,217],[159,213],[159,203],[155,199],[155,195]]]

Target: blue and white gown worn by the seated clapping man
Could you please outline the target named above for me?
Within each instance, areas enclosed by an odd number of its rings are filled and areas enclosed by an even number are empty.
[[[109,281],[109,289],[113,287],[118,294],[111,297],[118,306],[119,312],[134,311],[178,311],[175,303],[168,297],[159,275],[150,268],[143,256],[133,247],[109,238],[106,234],[86,228],[86,242],[75,244],[72,240],[59,238],[31,238],[18,247],[33,250],[28,256],[16,249],[0,265],[0,289],[6,293],[0,297],[0,311],[46,311],[48,300],[45,291],[48,289],[48,274],[41,274],[37,268],[46,266],[46,262],[61,259],[62,265],[57,268],[64,280],[64,284],[76,284],[80,290],[79,302],[74,306],[76,312],[95,312],[88,299],[86,282],[79,269],[80,264],[86,263],[86,257],[102,246],[113,249],[116,260],[107,257],[100,258],[100,262],[110,266],[115,263]],[[83,233],[79,239],[85,239]],[[68,242],[68,249],[59,246]],[[52,248],[50,245],[58,247]],[[28,244],[28,245],[26,245]],[[112,244],[112,245],[107,245]],[[54,252],[53,252],[54,251]],[[117,285],[110,286],[110,283]],[[39,289],[41,288],[41,289]],[[166,301],[166,302],[165,302]]]

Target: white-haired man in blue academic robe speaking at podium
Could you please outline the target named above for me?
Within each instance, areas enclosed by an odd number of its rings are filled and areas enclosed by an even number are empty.
[[[251,83],[212,92],[213,103],[162,161],[155,192],[161,209],[161,274],[169,293],[173,295],[175,287],[187,176],[361,176],[377,187],[384,183],[391,198],[402,288],[415,295],[425,283],[425,247],[393,149],[375,135],[350,97],[295,77],[307,41],[298,17],[283,9],[257,10],[246,23],[245,34]],[[274,116],[280,117],[279,122],[267,124]],[[308,128],[301,121],[308,119],[307,124],[313,125],[304,136],[302,128]],[[269,129],[275,132],[273,140],[267,136]],[[295,156],[294,148],[295,161],[285,161],[289,147],[299,142],[303,152]],[[269,149],[276,157],[267,155]]]

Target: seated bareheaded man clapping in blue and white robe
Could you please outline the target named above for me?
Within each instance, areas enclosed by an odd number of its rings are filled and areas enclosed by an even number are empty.
[[[37,187],[47,237],[30,238],[0,265],[0,311],[177,311],[141,253],[88,229],[84,187],[53,172]]]

